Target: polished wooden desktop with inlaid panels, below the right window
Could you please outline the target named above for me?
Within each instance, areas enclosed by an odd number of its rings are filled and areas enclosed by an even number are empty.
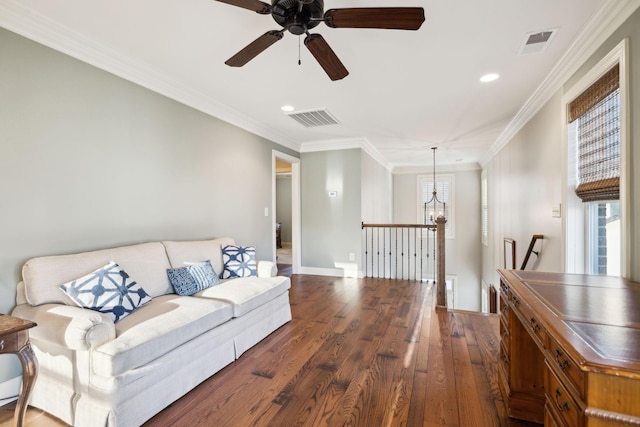
[[[578,352],[582,369],[640,377],[639,283],[612,276],[499,273],[554,338]]]

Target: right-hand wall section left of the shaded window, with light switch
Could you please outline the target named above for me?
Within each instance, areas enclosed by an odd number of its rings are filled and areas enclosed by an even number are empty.
[[[503,239],[516,241],[520,268],[533,234],[542,234],[540,257],[527,269],[560,271],[562,219],[552,217],[562,202],[560,96],[542,108],[486,167],[489,201],[488,245],[483,246],[483,278],[498,286],[503,268]]]

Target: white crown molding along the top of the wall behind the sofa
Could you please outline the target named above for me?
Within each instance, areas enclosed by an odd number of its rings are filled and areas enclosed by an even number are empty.
[[[157,72],[142,61],[122,55],[52,21],[16,0],[0,1],[0,26],[291,150],[300,150],[300,144],[287,136],[169,75]]]

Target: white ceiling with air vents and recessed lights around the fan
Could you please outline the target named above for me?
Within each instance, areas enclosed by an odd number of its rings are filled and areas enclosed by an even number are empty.
[[[269,0],[267,0],[269,1]],[[361,146],[390,169],[474,167],[575,71],[640,0],[325,0],[341,7],[421,6],[418,31],[321,33],[350,72],[332,82],[286,33],[242,68],[224,61],[280,27],[215,0],[0,0],[0,26],[297,151]],[[557,29],[542,53],[527,33]],[[577,65],[576,65],[577,64]],[[482,84],[496,72],[501,78]],[[556,83],[557,82],[557,83]],[[327,108],[338,125],[305,128],[280,107]]]

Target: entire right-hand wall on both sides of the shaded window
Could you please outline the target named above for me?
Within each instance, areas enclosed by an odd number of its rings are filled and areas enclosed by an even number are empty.
[[[600,46],[580,69],[527,123],[509,143],[485,165],[489,193],[489,245],[483,250],[482,275],[497,284],[496,268],[502,265],[502,239],[516,240],[517,266],[528,247],[531,234],[544,234],[542,253],[527,268],[561,271],[562,220],[551,217],[552,204],[562,201],[564,185],[561,123],[562,95],[608,54],[625,37],[629,38],[630,142],[630,279],[640,280],[640,9]],[[534,258],[536,258],[534,256]],[[531,261],[530,261],[531,262]]]

